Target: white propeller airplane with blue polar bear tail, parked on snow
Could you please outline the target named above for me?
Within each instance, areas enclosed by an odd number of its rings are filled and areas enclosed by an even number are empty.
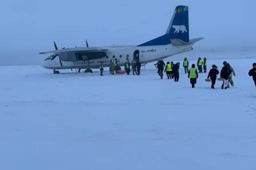
[[[43,61],[41,66],[52,69],[53,73],[60,73],[59,69],[79,68],[85,69],[84,72],[93,72],[91,68],[99,68],[100,63],[108,67],[110,59],[115,58],[119,66],[123,66],[130,57],[146,64],[193,50],[193,44],[201,39],[203,37],[189,39],[188,6],[178,5],[173,12],[166,33],[162,36],[139,45],[88,47],[86,44],[86,47],[58,49],[54,42],[55,50],[40,52],[40,54],[53,53]]]

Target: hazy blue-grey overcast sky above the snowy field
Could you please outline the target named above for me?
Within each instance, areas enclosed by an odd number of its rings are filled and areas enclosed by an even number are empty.
[[[255,0],[1,0],[0,57],[43,59],[53,40],[137,45],[164,34],[179,4],[189,6],[190,38],[205,37],[195,48],[255,45]]]

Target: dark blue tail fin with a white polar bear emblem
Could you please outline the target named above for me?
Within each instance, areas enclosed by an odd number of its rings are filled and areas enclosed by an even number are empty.
[[[188,6],[176,6],[172,19],[167,28],[166,34],[137,46],[166,45],[170,44],[173,38],[189,42],[189,19]]]

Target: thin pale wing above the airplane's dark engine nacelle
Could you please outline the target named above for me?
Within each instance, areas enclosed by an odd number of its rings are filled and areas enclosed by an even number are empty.
[[[57,50],[51,50],[46,52],[39,52],[40,54],[44,53],[55,53],[55,52],[104,52],[107,51],[107,48],[97,48],[97,47],[76,47],[76,48],[64,48],[64,49],[57,49]]]

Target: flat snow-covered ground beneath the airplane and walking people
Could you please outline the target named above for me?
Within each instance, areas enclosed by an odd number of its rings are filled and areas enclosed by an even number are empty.
[[[2,66],[0,169],[255,170],[256,60],[227,61],[227,90],[206,73],[193,89],[182,68],[161,80],[153,63],[140,76]]]

